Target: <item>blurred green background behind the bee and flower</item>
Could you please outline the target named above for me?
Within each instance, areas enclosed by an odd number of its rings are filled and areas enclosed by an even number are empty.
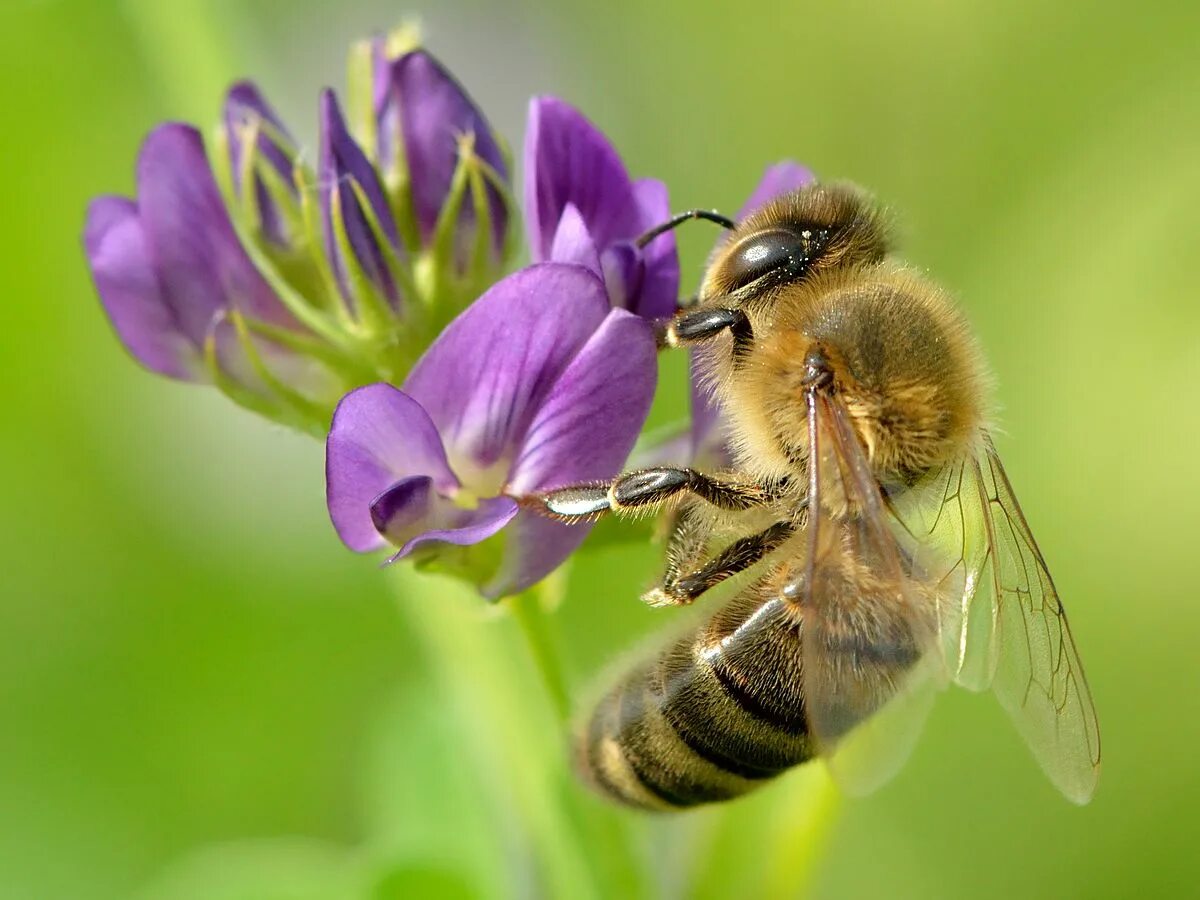
[[[449,704],[419,638],[456,646],[414,624],[437,592],[406,582],[397,608],[343,550],[316,442],[139,371],[79,246],[155,122],[214,122],[250,76],[311,145],[347,42],[413,13],[516,148],[527,97],[556,92],[678,208],[734,210],[786,156],[893,204],[998,373],[1000,450],[1087,665],[1090,806],[954,691],[820,841],[778,827],[811,775],[731,814],[612,814],[654,889],[751,895],[743,874],[784,859],[820,898],[1200,890],[1195,4],[5,0],[0,896],[539,890],[512,761],[485,764],[503,698]],[[712,236],[683,236],[692,281]],[[655,553],[598,541],[574,568],[553,626],[577,685],[662,622],[636,602]]]

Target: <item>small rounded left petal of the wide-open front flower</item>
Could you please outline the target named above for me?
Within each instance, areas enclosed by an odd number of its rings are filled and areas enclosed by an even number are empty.
[[[350,550],[383,546],[372,503],[410,475],[428,476],[443,493],[458,487],[428,413],[389,384],[347,394],[325,442],[325,491],[334,528]]]

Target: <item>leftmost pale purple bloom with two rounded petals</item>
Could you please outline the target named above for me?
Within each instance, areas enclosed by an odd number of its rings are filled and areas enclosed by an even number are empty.
[[[230,314],[300,330],[238,241],[196,128],[151,132],[137,182],[137,200],[91,203],[84,248],[104,311],[142,365],[206,382],[206,347]]]

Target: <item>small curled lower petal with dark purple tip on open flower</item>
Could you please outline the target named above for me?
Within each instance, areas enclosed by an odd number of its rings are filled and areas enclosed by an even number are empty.
[[[487,497],[474,509],[463,509],[438,494],[432,481],[419,475],[396,482],[371,504],[376,528],[400,546],[389,563],[403,559],[424,544],[479,544],[516,515],[517,504],[510,497]]]

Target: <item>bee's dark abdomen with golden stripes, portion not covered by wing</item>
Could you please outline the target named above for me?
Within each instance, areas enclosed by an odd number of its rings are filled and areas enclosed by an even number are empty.
[[[730,799],[811,756],[797,610],[752,589],[622,679],[580,746],[593,784],[650,809]]]

